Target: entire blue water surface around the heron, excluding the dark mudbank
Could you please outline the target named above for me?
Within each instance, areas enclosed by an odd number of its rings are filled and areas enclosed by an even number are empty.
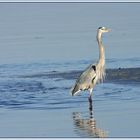
[[[140,137],[139,83],[97,85],[91,112],[62,75],[97,60],[99,26],[112,29],[106,67],[140,67],[138,13],[139,3],[0,3],[0,137]]]

